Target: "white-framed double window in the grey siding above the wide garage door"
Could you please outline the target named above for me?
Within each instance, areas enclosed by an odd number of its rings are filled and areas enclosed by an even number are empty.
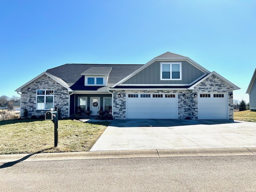
[[[160,80],[182,80],[181,62],[161,62]]]

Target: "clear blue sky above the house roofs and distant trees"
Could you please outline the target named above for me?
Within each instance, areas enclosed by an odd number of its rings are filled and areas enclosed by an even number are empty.
[[[188,56],[245,94],[256,68],[255,0],[0,0],[0,96],[66,63]]]

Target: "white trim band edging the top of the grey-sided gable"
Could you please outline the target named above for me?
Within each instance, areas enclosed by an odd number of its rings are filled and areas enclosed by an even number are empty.
[[[113,86],[111,86],[111,88],[125,82],[127,79],[131,78],[132,76],[134,76],[135,74],[137,74],[138,72],[140,72],[141,70],[143,70],[144,68],[146,68],[148,65],[152,64],[155,61],[187,61],[188,63],[192,64],[194,67],[198,68],[205,74],[210,73],[210,71],[206,70],[204,67],[200,66],[198,63],[194,62],[193,60],[191,60],[188,57],[176,57],[176,58],[175,57],[173,57],[173,58],[156,57],[156,58],[150,60],[149,62],[147,62],[146,64],[144,64],[143,66],[141,66],[140,68],[138,68],[136,71],[132,72],[130,75],[126,76],[125,78],[123,78],[122,80],[120,80],[119,82],[114,84]]]

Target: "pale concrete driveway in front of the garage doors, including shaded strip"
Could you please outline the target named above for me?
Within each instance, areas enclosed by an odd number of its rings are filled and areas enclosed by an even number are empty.
[[[90,151],[255,148],[256,123],[233,120],[113,120]]]

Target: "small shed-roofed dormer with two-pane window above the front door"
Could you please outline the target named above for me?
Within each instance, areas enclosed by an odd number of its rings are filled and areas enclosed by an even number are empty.
[[[81,75],[84,76],[85,86],[106,86],[112,67],[90,67]]]

